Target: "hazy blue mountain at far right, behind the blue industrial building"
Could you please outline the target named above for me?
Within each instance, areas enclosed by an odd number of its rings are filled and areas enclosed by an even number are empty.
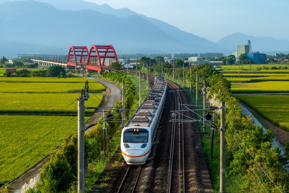
[[[289,51],[289,41],[287,40],[277,40],[273,37],[247,36],[239,32],[222,38],[217,42],[217,44],[223,48],[234,49],[237,51],[237,45],[246,45],[248,40],[251,41],[251,47],[254,52],[269,52],[274,50]],[[276,51],[276,53],[278,52]]]

